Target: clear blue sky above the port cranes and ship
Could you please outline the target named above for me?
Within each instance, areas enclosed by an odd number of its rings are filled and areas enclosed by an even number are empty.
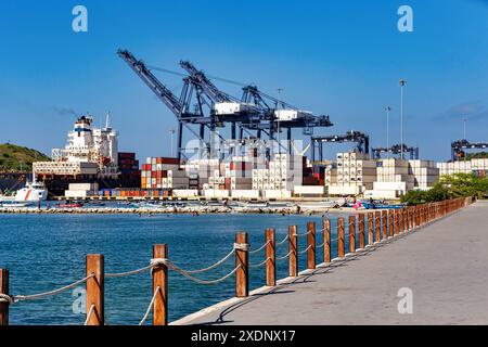
[[[72,30],[88,8],[89,31]],[[413,8],[414,31],[397,30]],[[172,114],[117,57],[127,48],[152,65],[191,60],[210,75],[255,82],[385,145],[384,107],[399,140],[399,78],[406,142],[447,159],[451,140],[488,141],[488,1],[1,1],[0,142],[50,153],[64,146],[74,116],[107,110],[123,151],[167,155]],[[179,93],[181,82],[158,77]],[[240,94],[236,87],[216,82]],[[328,146],[332,157],[342,147]]]

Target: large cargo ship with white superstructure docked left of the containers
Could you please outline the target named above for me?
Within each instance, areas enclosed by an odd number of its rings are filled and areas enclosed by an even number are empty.
[[[140,187],[141,172],[134,153],[118,152],[118,132],[110,125],[94,128],[90,114],[78,117],[67,133],[64,149],[53,149],[51,162],[33,164],[34,177],[50,197],[64,196],[70,183],[98,183],[100,189]]]

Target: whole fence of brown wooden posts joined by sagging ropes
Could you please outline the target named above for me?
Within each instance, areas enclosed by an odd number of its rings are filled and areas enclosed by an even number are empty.
[[[435,204],[424,204],[419,205],[415,207],[406,207],[400,208],[398,210],[388,210],[385,215],[382,215],[382,218],[378,218],[377,214],[369,213],[368,215],[368,224],[365,224],[364,218],[359,218],[359,221],[357,220],[356,216],[350,216],[348,218],[349,221],[349,253],[356,252],[356,245],[354,240],[357,240],[357,231],[356,228],[359,227],[359,242],[360,246],[365,246],[365,241],[368,245],[375,244],[378,241],[385,241],[390,239],[391,236],[397,236],[398,234],[403,234],[407,231],[415,230],[420,227],[426,226],[431,223],[432,221],[439,219],[441,217],[448,216],[451,213],[467,206],[471,203],[468,200],[453,200],[453,201],[446,201]],[[153,288],[154,292],[152,293],[152,298],[149,303],[147,308],[144,311],[144,316],[142,317],[141,321],[139,322],[140,325],[143,325],[150,314],[151,311],[153,312],[153,324],[167,324],[167,291],[168,291],[168,275],[167,271],[171,270],[175,271],[182,277],[191,280],[192,282],[195,282],[197,284],[202,285],[213,285],[218,284],[222,281],[228,280],[230,277],[235,274],[235,288],[236,288],[236,297],[246,297],[248,296],[248,277],[251,268],[260,268],[266,266],[266,285],[267,286],[274,286],[275,285],[275,279],[274,279],[274,272],[275,272],[275,262],[279,260],[290,259],[288,267],[290,267],[290,275],[291,277],[297,277],[299,273],[297,272],[298,269],[298,255],[308,253],[307,257],[307,269],[312,270],[317,268],[316,265],[316,249],[323,248],[324,253],[324,264],[330,262],[334,259],[331,259],[331,252],[332,252],[332,244],[334,243],[337,247],[337,258],[335,259],[343,259],[346,255],[345,253],[345,245],[346,245],[346,224],[344,217],[337,218],[337,234],[336,237],[331,239],[331,228],[330,228],[330,221],[328,221],[326,228],[318,230],[319,232],[325,231],[326,235],[324,234],[323,242],[319,245],[316,245],[316,234],[317,231],[314,229],[314,222],[308,222],[307,229],[308,231],[306,233],[298,234],[296,232],[296,226],[291,226],[288,229],[288,234],[285,235],[283,240],[275,243],[274,236],[275,232],[274,229],[267,229],[266,231],[266,243],[264,243],[261,246],[259,246],[256,249],[251,249],[251,245],[247,243],[247,233],[237,233],[236,235],[236,242],[233,244],[232,249],[220,260],[216,261],[215,264],[197,270],[185,270],[176,264],[174,264],[170,259],[167,257],[167,248],[166,245],[155,245],[153,249],[153,257],[150,260],[150,264],[134,269],[130,271],[125,272],[118,272],[118,273],[105,273],[103,270],[103,255],[88,255],[87,256],[87,271],[86,273],[90,273],[84,279],[80,279],[78,281],[75,281],[68,285],[59,287],[53,291],[31,294],[31,295],[9,295],[9,288],[5,287],[5,283],[9,283],[9,271],[5,269],[0,269],[0,308],[4,306],[9,306],[18,301],[23,300],[35,300],[35,299],[42,299],[49,296],[54,296],[57,294],[61,294],[63,292],[69,291],[70,288],[74,288],[82,283],[86,283],[87,285],[87,307],[89,307],[89,310],[87,312],[87,317],[85,320],[85,325],[97,325],[97,324],[106,324],[106,320],[104,319],[103,314],[103,288],[104,288],[104,279],[110,278],[123,278],[128,275],[133,275],[137,273],[142,273],[144,271],[151,270],[152,279],[153,279]],[[373,221],[375,221],[373,223]],[[365,228],[367,227],[367,228]],[[380,234],[378,230],[380,227],[383,227],[382,233]],[[365,230],[368,233],[365,233]],[[389,231],[389,233],[387,233]],[[297,252],[297,237],[298,236],[306,236],[310,233],[313,234],[313,236],[308,237],[307,240],[307,247],[303,250]],[[382,235],[382,237],[380,237]],[[354,239],[352,239],[354,237]],[[381,239],[381,240],[380,240]],[[287,254],[277,257],[275,250],[277,246],[285,244],[287,242],[290,250]],[[258,264],[249,264],[248,256],[251,254],[256,254],[258,252],[261,252],[265,249],[269,244],[273,244],[274,247],[269,247],[266,249],[266,259]],[[326,246],[328,245],[328,246]],[[160,249],[155,250],[155,249]],[[193,274],[196,273],[203,273],[207,272],[209,270],[216,269],[219,266],[221,266],[223,262],[229,260],[232,255],[235,255],[235,267],[229,272],[227,272],[224,275],[218,278],[218,279],[209,279],[209,280],[202,280],[198,278],[195,278]],[[89,260],[90,259],[90,260]],[[272,260],[272,261],[269,261]],[[293,271],[292,271],[293,270]],[[94,279],[93,279],[94,278]],[[5,280],[7,279],[7,280]],[[158,294],[160,294],[160,298],[158,298]],[[89,306],[90,305],[90,306]],[[162,308],[163,306],[163,308]],[[158,309],[156,310],[156,307]],[[8,312],[8,310],[0,310],[0,325],[8,323],[8,316],[7,319],[4,317],[3,312]],[[94,319],[93,314],[97,314],[97,319]],[[156,317],[157,316],[157,317]]]

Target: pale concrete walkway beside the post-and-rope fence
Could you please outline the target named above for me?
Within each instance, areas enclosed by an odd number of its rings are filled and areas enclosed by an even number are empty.
[[[398,291],[412,291],[411,314]],[[177,324],[488,324],[488,202]]]

